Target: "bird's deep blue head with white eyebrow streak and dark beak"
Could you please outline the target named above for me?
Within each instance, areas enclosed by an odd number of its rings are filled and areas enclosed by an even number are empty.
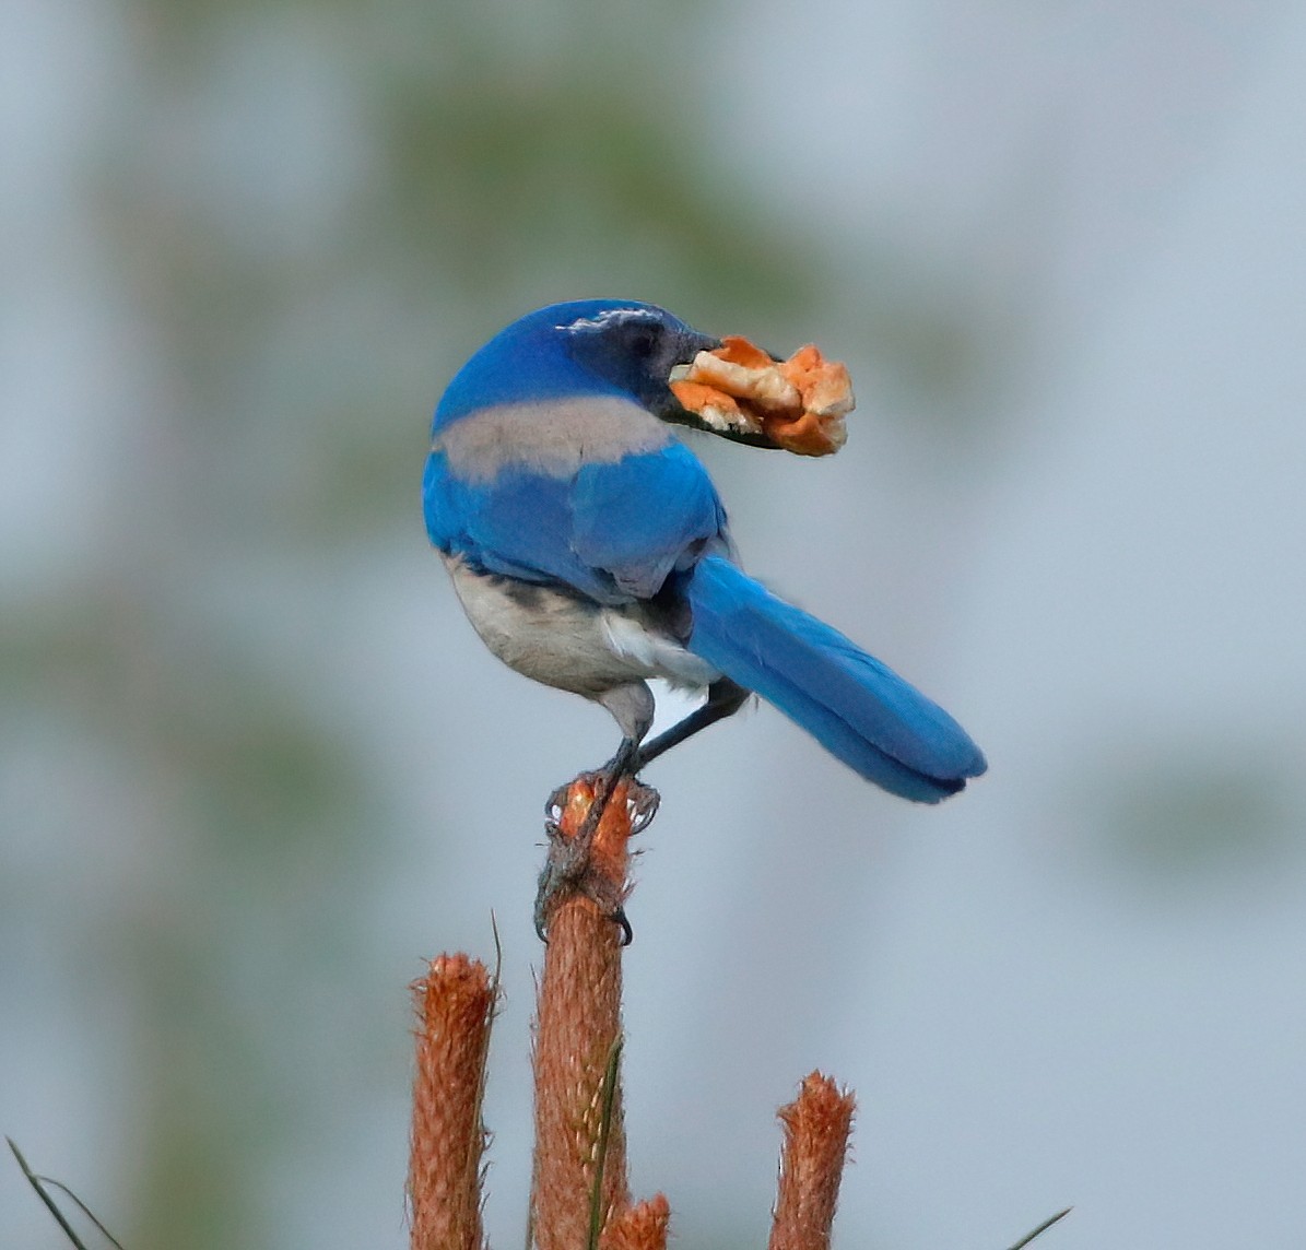
[[[434,431],[491,405],[601,394],[633,400],[662,421],[707,430],[680,405],[669,381],[678,364],[720,346],[720,338],[656,304],[620,299],[549,304],[502,329],[458,370],[435,410]],[[744,434],[724,436],[757,441]]]

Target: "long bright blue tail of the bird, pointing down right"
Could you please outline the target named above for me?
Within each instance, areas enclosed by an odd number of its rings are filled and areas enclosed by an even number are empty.
[[[868,781],[936,803],[987,767],[943,708],[729,560],[701,560],[684,593],[693,610],[690,650],[773,703]]]

